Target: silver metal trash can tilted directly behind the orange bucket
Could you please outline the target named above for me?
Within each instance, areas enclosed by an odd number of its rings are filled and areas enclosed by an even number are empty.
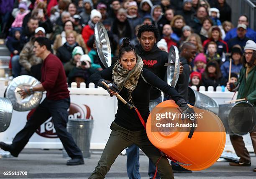
[[[219,114],[219,104],[214,99],[193,90],[191,87],[188,88],[189,104],[200,109],[206,109],[208,111],[211,111],[216,115]]]

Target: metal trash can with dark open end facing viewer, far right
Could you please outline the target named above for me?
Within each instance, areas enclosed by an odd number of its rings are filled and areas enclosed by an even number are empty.
[[[245,135],[251,132],[256,125],[256,111],[248,102],[220,104],[219,117],[226,132],[236,135]]]

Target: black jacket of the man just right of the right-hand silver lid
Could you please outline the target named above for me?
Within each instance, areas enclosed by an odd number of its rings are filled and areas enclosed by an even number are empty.
[[[189,75],[191,73],[187,60],[184,57],[179,57],[180,62],[182,62],[183,73],[179,75],[178,82],[175,86],[177,92],[186,100],[188,101],[188,85],[189,85]]]

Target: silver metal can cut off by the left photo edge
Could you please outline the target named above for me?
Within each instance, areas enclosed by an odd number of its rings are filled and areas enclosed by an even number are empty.
[[[7,98],[0,98],[0,132],[4,132],[10,125],[13,105]]]

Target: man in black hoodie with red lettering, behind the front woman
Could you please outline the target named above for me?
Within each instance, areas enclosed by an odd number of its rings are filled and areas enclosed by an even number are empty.
[[[159,37],[159,31],[154,25],[143,25],[138,29],[138,39],[140,44],[136,46],[137,54],[142,58],[144,68],[147,68],[155,75],[164,80],[166,67],[168,62],[168,53],[160,50],[156,41]],[[157,104],[162,102],[161,91],[155,87],[150,90],[149,110],[151,111]],[[132,145],[126,149],[127,153],[127,173],[129,179],[140,178],[139,174],[139,148]],[[149,160],[148,175],[149,178],[154,177],[156,167]],[[156,175],[156,179],[160,179],[160,175]]]

